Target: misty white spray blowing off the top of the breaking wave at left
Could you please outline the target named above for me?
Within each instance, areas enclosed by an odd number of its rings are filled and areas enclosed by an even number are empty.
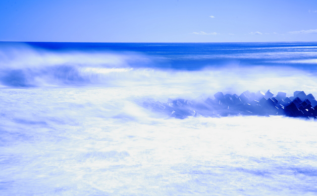
[[[19,44],[18,47],[0,48],[1,68],[40,68],[56,65],[77,65],[97,67],[127,66],[134,61],[150,61],[145,56],[136,53],[116,54],[114,52],[52,52],[34,49],[28,45]]]

